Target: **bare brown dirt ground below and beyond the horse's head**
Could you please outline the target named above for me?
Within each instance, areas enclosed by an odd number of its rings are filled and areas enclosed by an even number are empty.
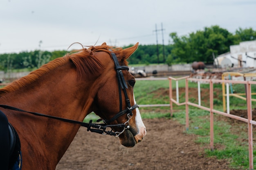
[[[168,95],[162,89],[156,95]],[[208,90],[209,91],[209,90]],[[182,93],[182,89],[180,89]],[[194,94],[195,93],[195,94]],[[207,93],[202,92],[202,94]],[[218,95],[221,92],[217,92]],[[197,90],[190,90],[191,96]],[[173,91],[175,96],[175,90]],[[204,99],[208,104],[209,100]],[[160,110],[159,110],[160,111]],[[231,111],[247,117],[243,110]],[[256,116],[254,109],[253,115]],[[256,120],[256,118],[253,118]],[[221,120],[231,123],[230,118]],[[218,160],[204,154],[205,147],[195,143],[196,135],[186,134],[185,126],[167,118],[145,119],[147,135],[134,148],[121,147],[119,139],[87,132],[81,127],[56,170],[230,170],[228,160]],[[218,146],[216,149],[218,149]],[[221,147],[221,146],[220,146]]]

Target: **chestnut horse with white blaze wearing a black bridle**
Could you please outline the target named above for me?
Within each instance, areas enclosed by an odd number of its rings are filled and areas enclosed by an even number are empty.
[[[142,141],[146,127],[127,66],[137,47],[83,47],[0,89],[0,111],[20,138],[22,169],[54,170],[83,125],[128,148]],[[103,123],[84,123],[91,112]]]

